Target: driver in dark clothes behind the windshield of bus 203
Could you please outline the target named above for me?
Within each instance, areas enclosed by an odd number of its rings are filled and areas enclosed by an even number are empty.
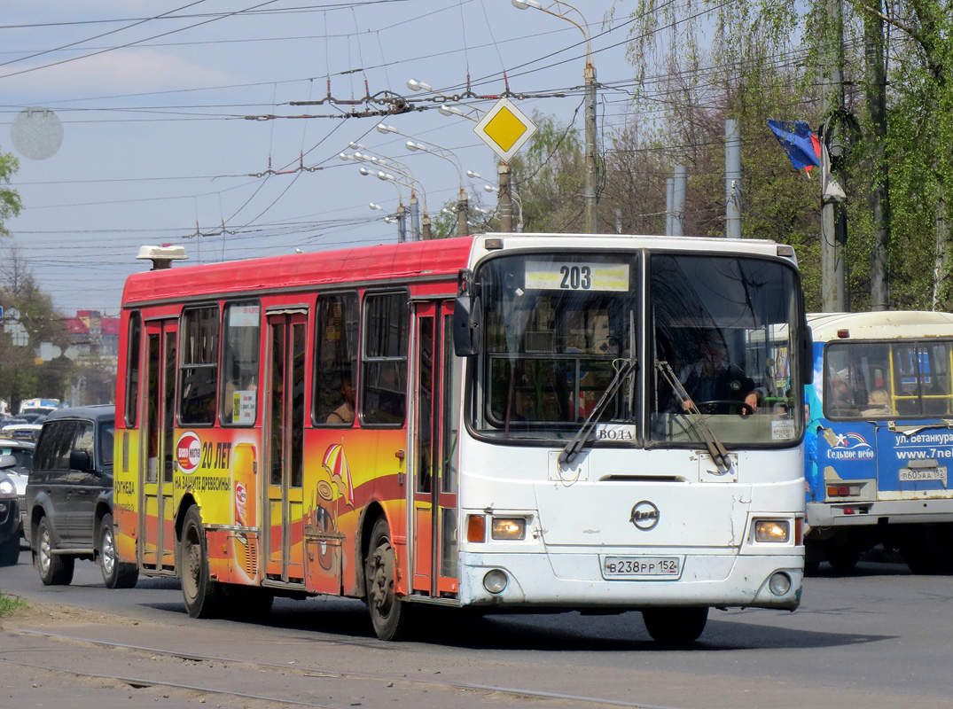
[[[729,361],[728,346],[717,332],[705,336],[698,359],[682,368],[679,380],[689,396],[681,402],[682,411],[698,406],[703,414],[739,414],[741,404],[747,413],[758,411],[754,379]]]

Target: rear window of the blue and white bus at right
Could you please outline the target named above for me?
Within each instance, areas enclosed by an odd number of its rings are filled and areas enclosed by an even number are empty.
[[[827,418],[937,418],[953,413],[953,342],[832,342],[824,352]]]

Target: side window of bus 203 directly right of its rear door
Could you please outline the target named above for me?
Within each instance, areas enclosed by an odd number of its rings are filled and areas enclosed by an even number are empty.
[[[218,306],[185,311],[180,341],[179,421],[212,425],[218,383]]]

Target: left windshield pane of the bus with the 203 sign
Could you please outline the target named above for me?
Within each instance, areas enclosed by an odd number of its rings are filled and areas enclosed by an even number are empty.
[[[479,272],[486,348],[476,427],[493,436],[566,439],[636,347],[637,258],[506,256]],[[632,377],[629,377],[630,381]],[[602,421],[632,422],[632,386]]]

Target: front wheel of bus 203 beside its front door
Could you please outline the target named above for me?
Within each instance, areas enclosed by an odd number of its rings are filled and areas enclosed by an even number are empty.
[[[371,547],[365,563],[367,605],[377,638],[396,640],[407,634],[410,606],[394,593],[394,547],[387,520],[381,517],[371,533]]]

